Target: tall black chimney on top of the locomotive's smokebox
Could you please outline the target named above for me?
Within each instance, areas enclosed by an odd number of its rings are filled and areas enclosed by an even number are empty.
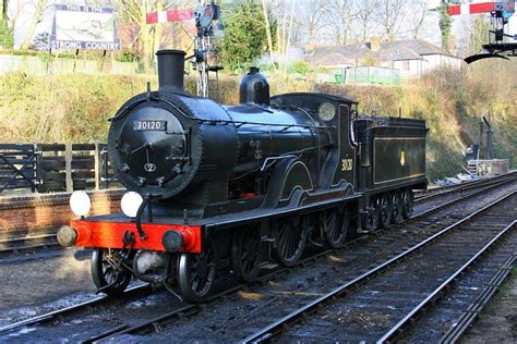
[[[184,57],[183,50],[158,50],[158,90],[184,93]]]

